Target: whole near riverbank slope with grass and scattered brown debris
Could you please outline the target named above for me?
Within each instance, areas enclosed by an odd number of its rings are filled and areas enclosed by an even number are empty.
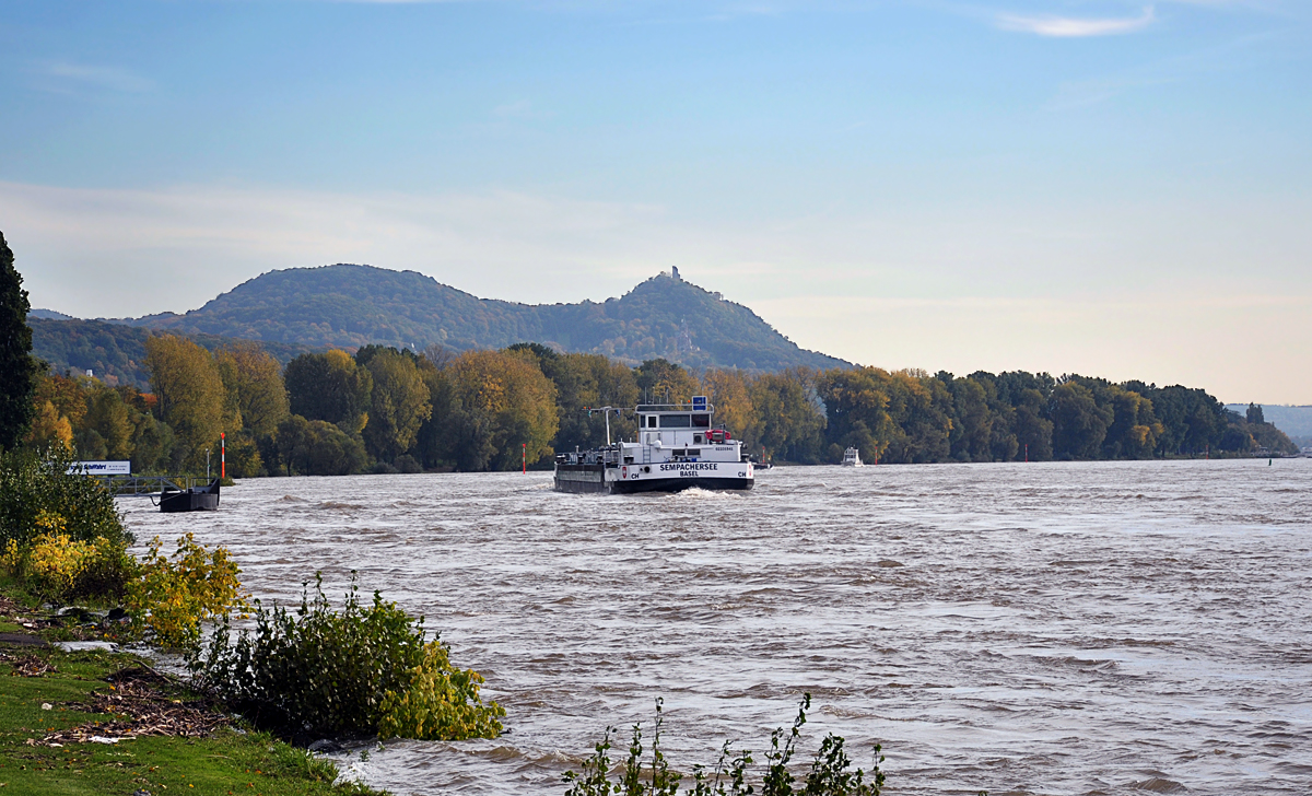
[[[0,788],[12,793],[382,796],[0,582]]]

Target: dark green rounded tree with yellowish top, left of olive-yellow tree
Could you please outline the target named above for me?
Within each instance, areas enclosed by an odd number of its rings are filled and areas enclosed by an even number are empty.
[[[338,425],[352,434],[369,422],[374,378],[346,351],[302,354],[287,363],[285,379],[293,414]]]

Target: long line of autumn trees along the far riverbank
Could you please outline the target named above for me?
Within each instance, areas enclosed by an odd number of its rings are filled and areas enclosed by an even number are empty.
[[[716,421],[757,459],[867,462],[1147,459],[1294,452],[1279,430],[1228,412],[1203,389],[1023,371],[955,376],[878,367],[775,374],[693,371],[665,359],[627,367],[538,344],[453,354],[365,346],[302,354],[283,368],[257,344],[207,351],[184,337],[147,341],[151,392],[96,379],[38,379],[26,442],[138,472],[346,475],[547,466],[554,451],[602,445],[606,417],[640,401],[707,395]],[[636,434],[631,412],[613,439]]]

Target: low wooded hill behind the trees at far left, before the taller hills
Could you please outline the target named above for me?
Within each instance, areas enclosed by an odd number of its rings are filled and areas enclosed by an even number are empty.
[[[150,374],[146,361],[146,340],[159,332],[140,327],[127,327],[94,320],[55,320],[28,316],[31,328],[31,353],[45,359],[56,371],[76,368],[94,371],[109,383],[134,384],[146,388]],[[188,334],[207,350],[240,342],[216,334]],[[261,342],[279,362],[286,365],[297,354],[316,350],[303,345]],[[113,379],[108,379],[113,376]]]

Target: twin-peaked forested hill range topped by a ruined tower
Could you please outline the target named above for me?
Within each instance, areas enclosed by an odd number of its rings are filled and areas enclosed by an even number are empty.
[[[470,350],[541,342],[630,365],[656,357],[749,371],[848,365],[798,348],[747,307],[670,274],[602,303],[517,304],[480,299],[415,271],[329,265],[270,271],[185,315],[122,323],[306,346]]]

